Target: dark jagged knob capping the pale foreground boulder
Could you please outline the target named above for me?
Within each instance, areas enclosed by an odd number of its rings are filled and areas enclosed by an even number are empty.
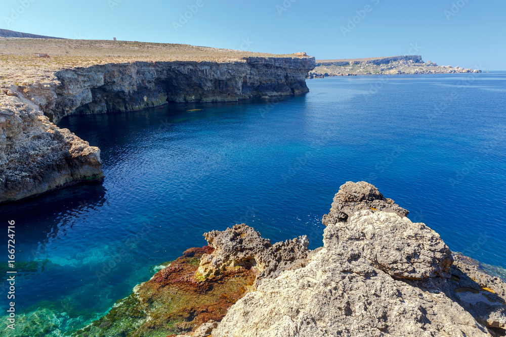
[[[401,217],[409,213],[395,204],[392,199],[383,197],[373,185],[365,181],[357,183],[349,181],[342,185],[334,196],[330,213],[323,216],[322,223],[328,226],[337,222],[346,222],[349,216],[361,210],[393,212]]]

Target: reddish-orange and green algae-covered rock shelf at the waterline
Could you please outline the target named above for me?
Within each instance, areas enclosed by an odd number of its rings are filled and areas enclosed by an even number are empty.
[[[241,267],[200,281],[195,277],[200,258],[213,251],[210,246],[186,250],[149,281],[137,285],[107,315],[74,335],[167,336],[220,321],[228,308],[249,291],[255,274]]]

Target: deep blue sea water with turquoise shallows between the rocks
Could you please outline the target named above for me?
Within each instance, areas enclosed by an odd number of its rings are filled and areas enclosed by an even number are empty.
[[[100,147],[105,179],[0,206],[4,226],[16,221],[18,313],[91,319],[152,266],[235,223],[272,242],[306,234],[317,248],[346,181],[373,183],[452,250],[506,267],[506,73],[308,86],[279,100],[64,118]]]

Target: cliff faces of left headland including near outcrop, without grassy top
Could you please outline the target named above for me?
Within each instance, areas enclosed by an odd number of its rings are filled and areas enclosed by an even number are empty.
[[[109,63],[45,75],[27,69],[1,93],[0,202],[103,176],[100,150],[53,124],[68,114],[302,94],[309,91],[306,76],[314,64],[311,57],[248,56]]]

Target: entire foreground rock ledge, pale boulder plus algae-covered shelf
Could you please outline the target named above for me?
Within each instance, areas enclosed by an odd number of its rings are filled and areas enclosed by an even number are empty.
[[[206,233],[208,247],[76,335],[504,336],[506,283],[407,214],[373,185],[347,182],[314,251],[306,236],[271,244],[244,224]]]

